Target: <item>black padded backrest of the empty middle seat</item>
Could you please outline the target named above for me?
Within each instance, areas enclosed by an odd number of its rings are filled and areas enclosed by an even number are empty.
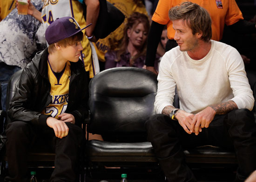
[[[145,121],[155,114],[157,76],[135,67],[100,72],[89,84],[90,124],[88,132],[125,141],[146,134]]]

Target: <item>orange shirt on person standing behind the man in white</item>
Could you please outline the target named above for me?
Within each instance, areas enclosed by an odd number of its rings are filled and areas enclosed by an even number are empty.
[[[172,7],[181,4],[186,0],[159,0],[152,20],[162,24],[167,24],[168,39],[173,39],[175,30],[172,21],[169,20],[168,11]],[[224,25],[233,25],[239,20],[243,20],[243,14],[235,0],[189,0],[204,7],[212,18],[212,39],[219,41],[222,39]]]

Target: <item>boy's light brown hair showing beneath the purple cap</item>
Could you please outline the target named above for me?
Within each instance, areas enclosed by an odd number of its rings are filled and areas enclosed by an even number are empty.
[[[77,42],[82,41],[82,39],[83,39],[83,32],[78,32],[78,33],[74,34],[73,36],[68,37],[66,39],[62,39],[59,42],[56,42],[54,44],[61,45],[63,47],[67,47],[68,45],[73,45]],[[49,47],[48,47],[49,53],[53,53],[56,50],[56,47],[54,44],[49,45]]]

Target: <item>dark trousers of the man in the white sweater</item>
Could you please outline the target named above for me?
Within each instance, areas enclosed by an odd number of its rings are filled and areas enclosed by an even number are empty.
[[[244,181],[256,169],[256,124],[247,109],[216,115],[209,128],[196,136],[183,130],[178,121],[157,114],[146,122],[148,141],[152,143],[168,182],[196,182],[185,162],[183,149],[214,145],[234,150],[238,160],[236,181]]]

